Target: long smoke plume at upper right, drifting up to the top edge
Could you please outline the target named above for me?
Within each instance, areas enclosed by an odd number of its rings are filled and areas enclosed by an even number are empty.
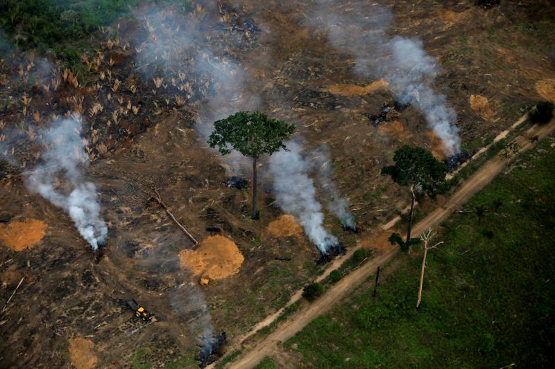
[[[334,6],[334,11],[327,6]],[[427,55],[419,39],[387,35],[393,15],[388,8],[349,3],[336,12],[334,0],[319,0],[316,17],[309,19],[314,28],[323,28],[332,45],[356,60],[355,70],[364,78],[381,77],[390,85],[395,98],[415,105],[429,127],[441,138],[445,154],[460,152],[461,138],[456,127],[456,112],[447,107],[447,98],[434,92],[438,73],[436,59]]]

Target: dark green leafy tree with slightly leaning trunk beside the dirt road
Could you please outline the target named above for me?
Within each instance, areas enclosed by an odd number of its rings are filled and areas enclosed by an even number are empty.
[[[409,186],[411,211],[409,213],[409,224],[407,225],[407,241],[405,241],[408,244],[411,241],[415,192],[433,198],[436,194],[445,190],[447,186],[445,181],[447,166],[434,158],[434,155],[428,150],[409,145],[403,145],[395,151],[393,161],[395,161],[395,165],[382,168],[382,175],[390,175],[395,183],[401,186]]]

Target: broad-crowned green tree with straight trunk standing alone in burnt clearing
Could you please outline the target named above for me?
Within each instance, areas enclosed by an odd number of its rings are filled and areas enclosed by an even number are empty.
[[[287,150],[284,141],[293,132],[295,125],[268,118],[259,111],[239,111],[214,122],[214,132],[208,138],[210,147],[218,147],[222,155],[237,150],[253,159],[253,219],[257,217],[257,159],[280,149]]]

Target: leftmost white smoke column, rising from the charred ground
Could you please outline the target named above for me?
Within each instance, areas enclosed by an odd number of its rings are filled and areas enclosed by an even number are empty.
[[[99,198],[94,183],[83,180],[81,169],[89,157],[83,151],[80,117],[58,120],[42,132],[42,163],[25,172],[26,186],[38,192],[52,204],[65,210],[73,219],[83,238],[98,249],[108,235],[108,228],[100,217]],[[69,190],[56,186],[62,176]]]

